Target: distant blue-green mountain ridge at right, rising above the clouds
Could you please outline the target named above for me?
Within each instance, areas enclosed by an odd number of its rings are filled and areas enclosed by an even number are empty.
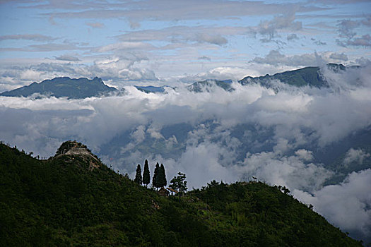
[[[344,71],[346,69],[342,64],[327,64],[327,68],[333,71]],[[252,77],[247,76],[239,81],[242,85],[256,83],[265,87],[271,88],[272,80],[280,80],[282,83],[302,87],[309,85],[311,87],[322,88],[328,87],[326,80],[321,76],[320,67],[305,67],[294,71],[285,71],[283,73],[276,73],[273,76],[266,74],[266,76]]]

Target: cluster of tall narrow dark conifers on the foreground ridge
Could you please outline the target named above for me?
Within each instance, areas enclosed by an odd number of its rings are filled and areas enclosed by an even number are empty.
[[[138,164],[136,167],[136,175],[134,182],[138,184],[144,184],[146,187],[148,184],[151,182],[151,175],[149,172],[149,167],[148,167],[148,160],[144,162],[144,170],[143,170],[143,176],[141,173],[141,164]],[[153,172],[153,177],[152,177],[152,186],[154,188],[161,188],[167,185],[167,180],[166,180],[166,173],[165,173],[165,167],[163,164],[156,164],[155,166],[155,171]]]

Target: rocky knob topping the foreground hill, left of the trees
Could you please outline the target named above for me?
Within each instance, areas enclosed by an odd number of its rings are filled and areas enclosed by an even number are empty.
[[[89,164],[89,170],[93,170],[102,165],[100,159],[82,143],[76,140],[68,140],[61,144],[53,158],[64,157],[69,159],[69,162],[75,162],[75,156],[83,159],[84,162]]]

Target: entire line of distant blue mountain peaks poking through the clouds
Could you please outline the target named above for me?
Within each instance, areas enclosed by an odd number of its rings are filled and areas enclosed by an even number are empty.
[[[342,64],[327,64],[327,68],[333,71],[344,71],[346,66]],[[321,75],[320,67],[305,67],[294,71],[285,71],[283,73],[276,73],[273,76],[267,74],[266,76],[252,77],[247,76],[238,83],[241,85],[259,84],[266,88],[273,88],[275,80],[281,81],[288,85],[297,87],[310,86],[316,88],[328,87],[328,83]],[[188,85],[187,89],[191,92],[208,92],[214,86],[223,88],[228,92],[234,90],[232,88],[232,80],[214,80],[208,79]],[[135,86],[137,90],[146,93],[165,93],[167,86]],[[176,90],[176,88],[174,88]],[[109,87],[103,83],[100,78],[78,78],[71,79],[69,77],[54,78],[52,80],[43,80],[41,83],[32,83],[22,88],[2,92],[0,96],[11,97],[29,97],[34,94],[54,96],[54,97],[68,97],[72,99],[81,99],[86,97],[99,97],[108,95],[110,92],[118,91],[116,88]]]

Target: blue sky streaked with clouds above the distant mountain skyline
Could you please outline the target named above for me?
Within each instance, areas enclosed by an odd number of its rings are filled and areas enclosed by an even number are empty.
[[[371,58],[370,1],[1,1],[0,91],[238,80]]]

